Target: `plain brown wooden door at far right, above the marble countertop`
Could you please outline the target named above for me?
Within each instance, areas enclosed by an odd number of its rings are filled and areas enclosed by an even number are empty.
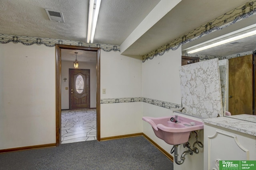
[[[228,111],[231,115],[252,114],[252,55],[229,59]]]

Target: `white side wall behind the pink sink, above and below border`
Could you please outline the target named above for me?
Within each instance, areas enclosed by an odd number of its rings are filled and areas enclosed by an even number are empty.
[[[181,47],[145,61],[142,64],[142,96],[181,104],[179,66],[181,66]],[[170,109],[143,103],[143,116],[161,117],[169,115],[172,115]],[[172,149],[172,145],[168,145],[156,137],[152,127],[145,121],[143,121],[143,133],[167,152]]]

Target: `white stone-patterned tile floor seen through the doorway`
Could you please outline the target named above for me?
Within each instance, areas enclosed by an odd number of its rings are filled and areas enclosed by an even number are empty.
[[[96,109],[63,110],[61,112],[61,143],[96,139]]]

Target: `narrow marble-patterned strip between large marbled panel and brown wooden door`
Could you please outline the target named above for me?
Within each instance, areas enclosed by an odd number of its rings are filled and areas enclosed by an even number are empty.
[[[219,60],[220,68],[220,87],[221,87],[221,96],[222,96],[222,107],[223,113],[226,111],[226,93],[228,86],[228,59]]]

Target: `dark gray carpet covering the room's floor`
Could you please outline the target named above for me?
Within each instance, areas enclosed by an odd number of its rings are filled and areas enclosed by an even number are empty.
[[[140,136],[4,153],[0,170],[173,170],[173,163]]]

